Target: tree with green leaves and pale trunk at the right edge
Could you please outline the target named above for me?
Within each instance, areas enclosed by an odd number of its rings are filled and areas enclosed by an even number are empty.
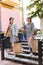
[[[43,32],[43,0],[30,0],[30,1],[31,4],[27,6],[27,10],[30,10],[31,12],[29,12],[28,15],[31,18],[36,16],[40,18],[40,26]],[[35,10],[32,11],[32,8],[35,8]]]

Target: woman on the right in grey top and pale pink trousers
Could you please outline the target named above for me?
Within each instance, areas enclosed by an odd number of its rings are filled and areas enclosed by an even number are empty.
[[[32,55],[32,38],[34,35],[34,24],[31,21],[31,18],[27,18],[27,25],[26,25],[26,33],[27,33],[27,41],[28,47],[30,49],[30,55]]]

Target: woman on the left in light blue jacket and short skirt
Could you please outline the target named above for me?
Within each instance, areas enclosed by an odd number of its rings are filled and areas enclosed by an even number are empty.
[[[13,53],[14,53],[14,56],[15,56],[14,45],[16,44],[16,41],[17,41],[17,38],[18,38],[18,29],[17,29],[16,24],[14,24],[14,18],[13,17],[9,18],[9,22],[10,22],[10,24],[9,24],[9,27],[7,29],[6,34],[8,32],[10,34],[10,43],[12,43]]]

